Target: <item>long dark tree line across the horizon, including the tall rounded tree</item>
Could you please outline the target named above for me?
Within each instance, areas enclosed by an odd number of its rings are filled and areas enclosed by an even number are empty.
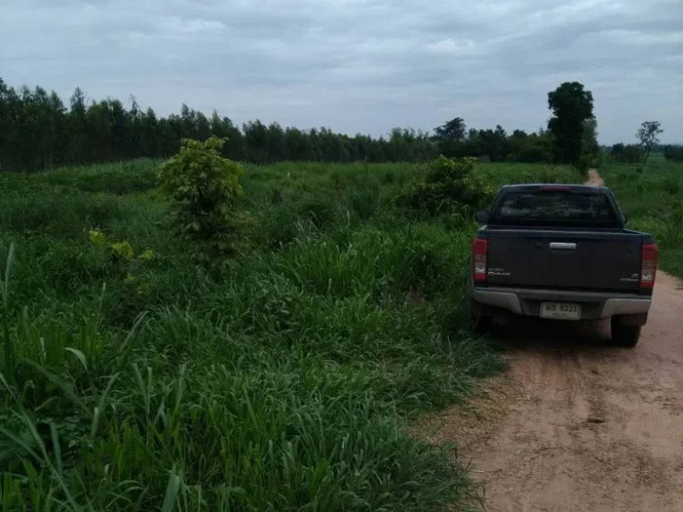
[[[157,116],[134,98],[87,100],[76,88],[68,105],[42,87],[15,90],[0,78],[0,170],[36,171],[140,157],[174,155],[185,139],[227,138],[221,149],[233,160],[271,164],[284,160],[419,162],[438,155],[477,156],[493,162],[594,164],[599,157],[592,95],[577,82],[548,94],[548,129],[526,133],[467,129],[455,117],[434,133],[393,129],[386,137],[349,136],[327,128],[300,130],[256,120],[237,126],[213,111],[187,105],[180,114]]]

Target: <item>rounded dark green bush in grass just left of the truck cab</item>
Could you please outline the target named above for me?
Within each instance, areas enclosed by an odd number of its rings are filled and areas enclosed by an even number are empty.
[[[473,176],[474,162],[474,158],[440,156],[426,165],[420,180],[398,196],[397,204],[430,216],[477,207],[489,193]]]

